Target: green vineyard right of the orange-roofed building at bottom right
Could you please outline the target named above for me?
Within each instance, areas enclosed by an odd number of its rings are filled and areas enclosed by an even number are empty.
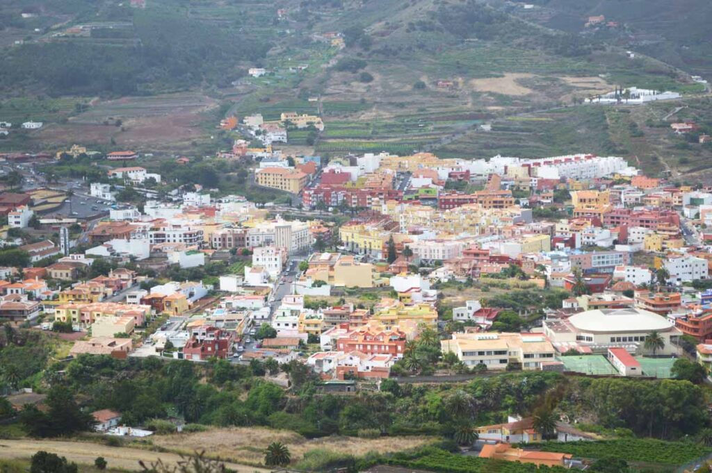
[[[546,452],[570,453],[574,457],[614,457],[628,462],[684,464],[712,454],[712,448],[695,443],[664,442],[654,439],[619,439],[600,442],[546,442],[540,445]]]

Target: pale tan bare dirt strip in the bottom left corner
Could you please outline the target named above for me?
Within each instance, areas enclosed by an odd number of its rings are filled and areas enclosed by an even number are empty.
[[[109,467],[128,470],[141,470],[138,464],[143,460],[146,464],[162,459],[165,463],[179,461],[179,455],[174,453],[151,452],[138,448],[107,447],[86,442],[68,442],[53,440],[0,440],[0,458],[29,458],[38,450],[56,453],[67,457],[71,462],[93,464],[96,457],[104,457]],[[238,473],[268,473],[271,470],[248,467],[242,464],[225,463],[229,469]]]

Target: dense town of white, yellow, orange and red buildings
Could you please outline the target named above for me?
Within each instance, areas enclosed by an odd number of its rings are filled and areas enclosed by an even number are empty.
[[[157,192],[164,176],[141,153],[88,153],[4,156],[0,318],[57,334],[63,363],[223,360],[287,389],[302,366],[325,393],[518,371],[702,383],[712,368],[701,185],[616,156],[326,160],[238,141],[216,159],[247,161],[257,186],[292,196],[265,204],[198,184]],[[85,159],[103,169],[95,181],[48,171]],[[127,189],[141,203],[122,202]],[[110,435],[155,431],[93,415]],[[464,432],[479,457],[565,467],[586,463],[512,445],[602,438],[517,415]]]

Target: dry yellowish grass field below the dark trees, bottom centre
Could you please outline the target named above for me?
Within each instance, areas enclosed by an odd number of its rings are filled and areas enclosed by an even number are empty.
[[[263,450],[271,442],[282,442],[289,448],[293,459],[301,459],[310,450],[330,450],[344,455],[362,456],[370,452],[388,453],[408,450],[434,442],[434,437],[323,437],[308,440],[288,430],[266,427],[231,427],[211,429],[206,432],[177,435],[156,435],[153,444],[174,452],[192,452],[205,449],[211,455],[234,462],[258,464],[263,460]]]

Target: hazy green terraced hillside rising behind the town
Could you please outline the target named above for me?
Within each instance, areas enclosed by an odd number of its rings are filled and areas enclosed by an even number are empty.
[[[598,3],[613,9],[609,4],[619,2]],[[0,90],[8,97],[0,102],[0,119],[6,113],[14,122],[49,124],[2,140],[0,149],[61,147],[82,137],[100,148],[210,153],[239,137],[213,136],[225,114],[273,118],[295,111],[320,113],[326,129],[317,137],[290,134],[287,152],[628,156],[621,135],[600,127],[604,112],[547,114],[615,86],[689,97],[704,90],[687,68],[639,50],[628,58],[618,38],[579,31],[580,18],[587,18],[582,12],[599,8],[589,0],[540,0],[531,16],[520,4],[499,0],[130,4],[10,0],[0,6],[0,17],[12,19],[0,31],[7,65]],[[664,22],[676,8],[661,3],[656,18]],[[34,16],[18,20],[23,12]],[[342,47],[333,33],[342,36]],[[22,44],[8,42],[18,34]],[[251,78],[251,67],[269,73]],[[528,118],[532,113],[544,115]],[[562,134],[556,124],[569,116],[570,131]],[[491,122],[498,134],[481,135],[479,125]]]

